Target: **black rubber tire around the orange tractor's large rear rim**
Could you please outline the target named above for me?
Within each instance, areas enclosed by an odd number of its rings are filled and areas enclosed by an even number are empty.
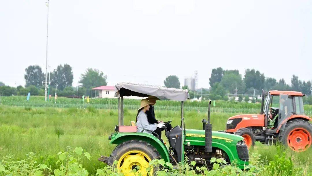
[[[290,147],[291,149],[295,150],[295,151],[300,151],[300,150],[297,150],[296,148],[294,147],[291,147],[290,146],[290,140],[288,139],[289,135],[292,135],[291,132],[293,132],[294,129],[296,128],[302,128],[304,129],[307,133],[310,133],[307,134],[308,138],[306,138],[307,142],[311,144],[311,136],[312,136],[312,124],[309,123],[308,121],[306,120],[302,120],[302,119],[294,119],[294,120],[290,120],[289,122],[286,123],[285,125],[285,129],[284,131],[280,131],[279,135],[278,135],[278,140],[283,143],[285,146],[288,146]],[[310,145],[307,147],[309,148]],[[307,149],[305,148],[305,149]],[[305,150],[303,149],[303,150]],[[303,151],[302,150],[302,151]]]

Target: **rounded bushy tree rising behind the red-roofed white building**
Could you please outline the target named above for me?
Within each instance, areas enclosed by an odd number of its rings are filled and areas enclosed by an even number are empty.
[[[98,69],[87,68],[85,73],[81,74],[79,83],[82,83],[86,89],[90,89],[91,87],[106,86],[106,79],[107,76]]]

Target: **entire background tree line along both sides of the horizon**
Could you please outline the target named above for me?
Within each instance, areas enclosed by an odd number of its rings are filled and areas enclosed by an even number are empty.
[[[0,94],[3,96],[10,95],[44,95],[45,75],[38,65],[30,65],[25,68],[25,86],[17,86],[17,88],[5,86],[0,82]],[[91,94],[91,88],[107,85],[107,76],[98,69],[87,68],[84,73],[80,75],[79,86],[73,86],[73,72],[68,64],[58,65],[56,69],[50,72],[50,95],[55,94],[57,85],[58,96],[82,96]],[[163,81],[167,87],[181,88],[181,84],[176,75],[170,75]],[[238,70],[224,70],[221,67],[212,69],[209,78],[210,88],[202,88],[200,90],[189,90],[190,98],[201,96],[206,99],[223,99],[228,100],[227,94],[237,94],[239,100],[243,100],[243,94],[259,95],[262,89],[269,90],[293,90],[311,95],[312,86],[311,81],[300,80],[298,76],[293,75],[291,84],[285,83],[284,78],[277,81],[275,78],[265,77],[260,71],[255,69],[246,69],[244,77]],[[188,89],[182,86],[183,89]],[[312,104],[312,98],[311,98]]]

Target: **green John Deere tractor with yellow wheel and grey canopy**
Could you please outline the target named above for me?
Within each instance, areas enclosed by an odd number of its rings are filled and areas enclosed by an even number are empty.
[[[235,163],[241,169],[249,164],[248,148],[243,137],[212,131],[211,102],[208,106],[207,120],[202,120],[203,129],[186,129],[183,102],[189,99],[188,90],[132,83],[118,83],[115,89],[115,96],[118,97],[118,125],[115,127],[115,132],[109,136],[109,140],[117,146],[110,157],[101,156],[99,161],[110,166],[114,161],[118,161],[115,167],[124,175],[134,175],[131,172],[133,169],[137,169],[137,172],[142,175],[147,175],[146,169],[153,159],[163,159],[173,166],[179,162],[195,161],[195,166],[208,168],[212,168],[210,164],[212,157],[223,158],[228,164]],[[157,137],[156,133],[155,135],[144,133],[145,129],[137,132],[133,121],[129,122],[129,126],[124,125],[124,96],[148,97],[149,95],[159,99],[181,101],[181,125],[165,132],[169,147],[161,136]]]

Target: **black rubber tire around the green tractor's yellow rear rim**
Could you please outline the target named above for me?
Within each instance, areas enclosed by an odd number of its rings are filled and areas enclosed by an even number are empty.
[[[116,146],[116,148],[110,154],[107,164],[112,166],[114,161],[116,160],[118,161],[124,153],[132,151],[132,150],[139,150],[139,151],[146,153],[151,160],[161,159],[160,154],[158,153],[156,148],[154,148],[151,144],[145,141],[141,141],[141,140],[129,140]],[[118,167],[118,166],[115,166],[115,167]],[[154,168],[154,172],[157,169],[158,168]]]

